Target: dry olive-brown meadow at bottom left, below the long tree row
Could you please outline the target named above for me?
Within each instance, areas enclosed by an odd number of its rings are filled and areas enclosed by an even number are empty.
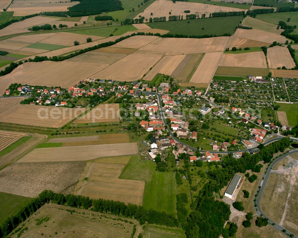
[[[73,212],[70,213],[69,210]],[[82,215],[84,214],[84,215]],[[37,226],[36,219],[50,217],[46,223]],[[136,220],[122,218],[131,223],[116,221],[117,216],[101,214],[94,211],[86,211],[73,207],[45,204],[38,212],[30,216],[24,223],[28,230],[24,231],[22,237],[121,237],[130,238],[134,225],[136,225],[136,234],[142,231],[142,227]],[[111,220],[111,219],[116,219]],[[23,228],[21,225],[18,228]],[[57,234],[55,234],[57,233]],[[13,234],[12,238],[17,238],[18,232]]]

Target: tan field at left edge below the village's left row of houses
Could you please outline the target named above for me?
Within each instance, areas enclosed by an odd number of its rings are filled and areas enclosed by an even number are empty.
[[[15,105],[0,114],[0,122],[59,128],[79,116],[86,108],[54,108],[39,105]]]

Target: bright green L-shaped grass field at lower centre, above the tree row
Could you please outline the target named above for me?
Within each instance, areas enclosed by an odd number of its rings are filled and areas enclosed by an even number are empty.
[[[134,155],[119,178],[145,181],[143,206],[176,215],[176,180],[173,172],[155,170],[153,161],[141,160]]]

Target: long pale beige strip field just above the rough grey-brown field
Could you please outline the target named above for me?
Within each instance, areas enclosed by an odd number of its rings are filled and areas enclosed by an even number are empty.
[[[139,153],[136,143],[38,148],[18,160],[18,163],[87,161],[107,156],[132,155],[133,153]]]

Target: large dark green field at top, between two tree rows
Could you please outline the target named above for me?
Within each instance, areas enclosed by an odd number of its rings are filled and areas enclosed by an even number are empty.
[[[223,35],[224,33],[233,34],[235,27],[239,24],[241,19],[242,16],[215,17],[183,21],[152,22],[148,23],[148,26],[168,30],[170,31],[169,34]]]

